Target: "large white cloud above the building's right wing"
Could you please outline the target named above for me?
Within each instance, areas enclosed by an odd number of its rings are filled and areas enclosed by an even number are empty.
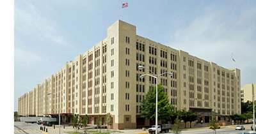
[[[252,82],[252,74],[256,71],[253,62],[256,50],[255,17],[255,8],[238,10],[229,15],[225,10],[212,8],[193,18],[187,27],[173,31],[169,44],[224,68],[239,68],[242,84]]]

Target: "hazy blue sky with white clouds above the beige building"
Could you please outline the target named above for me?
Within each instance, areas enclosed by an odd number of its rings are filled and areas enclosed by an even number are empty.
[[[116,20],[150,40],[239,68],[241,86],[255,83],[255,7],[250,0],[14,0],[14,110],[20,96],[106,38]]]

